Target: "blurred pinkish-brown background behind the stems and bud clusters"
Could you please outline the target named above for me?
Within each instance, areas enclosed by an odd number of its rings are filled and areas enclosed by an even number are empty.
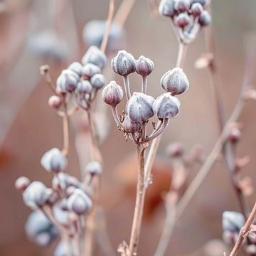
[[[117,6],[120,4],[117,0]],[[245,72],[245,35],[256,31],[255,0],[213,0],[213,32],[220,88],[225,114],[228,117],[238,99]],[[154,61],[155,70],[149,77],[149,94],[162,92],[159,80],[166,70],[174,68],[178,44],[168,18],[154,15],[157,1],[137,0],[125,28],[125,50],[139,58],[145,55]],[[51,92],[39,68],[50,65],[53,81],[69,63],[85,53],[82,29],[92,19],[105,19],[108,1],[94,0],[6,0],[0,1],[0,255],[51,255],[53,245],[40,248],[29,242],[23,230],[30,210],[14,188],[18,176],[28,176],[50,184],[51,175],[40,165],[42,154],[63,143],[62,120],[48,107]],[[49,39],[50,38],[50,39]],[[49,48],[47,48],[49,46]],[[154,171],[156,185],[148,194],[139,255],[153,255],[164,223],[161,196],[169,186],[171,161],[165,154],[171,142],[181,142],[186,151],[194,144],[203,145],[207,156],[218,137],[213,90],[208,70],[196,70],[194,63],[206,51],[203,33],[188,48],[184,70],[191,87],[181,95],[181,112],[171,121],[159,149],[159,171]],[[112,72],[107,68],[107,79]],[[118,78],[117,78],[118,79]],[[132,75],[133,90],[140,86]],[[99,95],[100,96],[100,95]],[[100,97],[99,97],[100,98]],[[238,155],[250,155],[243,170],[255,183],[256,165],[256,103],[245,105],[240,122],[242,139]],[[129,239],[134,209],[135,179],[134,145],[125,142],[107,110],[109,135],[102,142],[104,174],[102,203],[106,210],[107,228],[112,246]],[[68,172],[79,176],[75,150],[78,128],[74,120],[70,131]],[[86,157],[86,156],[85,156]],[[132,159],[132,160],[131,160]],[[196,174],[199,166],[192,171]],[[255,194],[249,198],[255,201]],[[172,235],[166,255],[207,255],[206,242],[222,237],[221,215],[224,210],[239,210],[223,161],[217,161],[203,186],[182,215]],[[102,255],[100,250],[95,255]],[[242,253],[241,253],[242,255]]]

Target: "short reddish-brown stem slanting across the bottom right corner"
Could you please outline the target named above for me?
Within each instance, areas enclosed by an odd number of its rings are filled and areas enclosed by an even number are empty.
[[[238,251],[242,245],[242,242],[243,240],[245,240],[247,233],[250,231],[253,220],[255,220],[255,216],[256,216],[256,203],[255,203],[255,206],[253,206],[252,211],[249,217],[247,218],[245,225],[240,230],[238,240],[235,242],[235,246],[233,247],[233,250],[230,252],[230,256],[235,256],[238,254]]]

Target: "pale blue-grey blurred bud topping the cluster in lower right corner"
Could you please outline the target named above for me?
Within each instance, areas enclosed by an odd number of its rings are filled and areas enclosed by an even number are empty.
[[[239,233],[245,224],[245,217],[235,211],[225,211],[222,218],[223,230]]]

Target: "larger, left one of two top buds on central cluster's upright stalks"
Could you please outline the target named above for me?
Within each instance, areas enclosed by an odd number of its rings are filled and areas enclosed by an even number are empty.
[[[112,58],[111,65],[114,72],[122,76],[127,76],[135,72],[134,56],[125,50],[119,50],[117,56]]]

